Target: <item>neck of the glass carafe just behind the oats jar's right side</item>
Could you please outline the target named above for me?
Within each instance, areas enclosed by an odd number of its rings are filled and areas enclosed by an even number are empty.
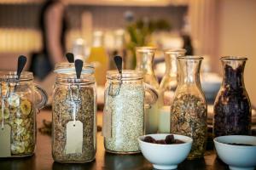
[[[137,50],[137,71],[143,73],[154,74],[154,53],[155,50]]]

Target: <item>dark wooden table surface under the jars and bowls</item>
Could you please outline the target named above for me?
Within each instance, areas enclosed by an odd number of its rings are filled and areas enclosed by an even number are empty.
[[[102,112],[97,115],[98,125],[102,125]],[[51,111],[44,110],[38,114],[38,127],[42,127],[42,120],[51,120]],[[96,161],[85,164],[61,164],[54,162],[51,156],[51,139],[49,135],[38,132],[37,149],[32,157],[27,158],[6,158],[0,160],[0,170],[143,170],[153,169],[142,154],[137,155],[114,155],[106,153],[103,146],[101,132],[97,133]],[[0,150],[1,151],[1,150]],[[153,153],[154,154],[154,153]],[[213,150],[207,150],[204,159],[195,161],[183,161],[178,166],[183,170],[224,170],[229,169],[222,161],[216,159]]]

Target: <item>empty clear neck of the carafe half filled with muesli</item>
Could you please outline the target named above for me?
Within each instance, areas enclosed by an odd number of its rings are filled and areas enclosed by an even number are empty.
[[[189,56],[188,56],[189,57]],[[186,59],[186,57],[178,58],[178,85],[195,85],[200,87],[200,57]]]

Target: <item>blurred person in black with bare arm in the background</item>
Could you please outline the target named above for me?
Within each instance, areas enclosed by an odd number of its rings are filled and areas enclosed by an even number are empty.
[[[61,0],[46,0],[39,17],[43,48],[41,52],[32,54],[30,71],[35,78],[45,81],[53,71],[55,63],[64,60],[67,31],[65,5]]]

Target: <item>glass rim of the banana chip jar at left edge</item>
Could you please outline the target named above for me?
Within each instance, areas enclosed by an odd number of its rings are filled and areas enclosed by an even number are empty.
[[[30,71],[22,71],[20,74],[20,81],[31,81],[33,79],[33,73]],[[18,76],[16,71],[0,71],[0,80],[1,81],[11,81],[16,82]]]

